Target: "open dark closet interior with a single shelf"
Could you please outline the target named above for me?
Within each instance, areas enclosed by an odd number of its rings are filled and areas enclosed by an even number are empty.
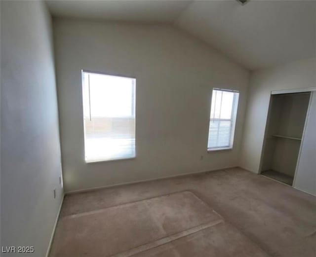
[[[311,92],[271,95],[261,175],[293,185]]]

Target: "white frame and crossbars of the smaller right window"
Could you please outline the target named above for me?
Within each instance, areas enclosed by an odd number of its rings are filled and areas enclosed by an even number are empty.
[[[233,98],[233,104],[232,104],[232,114],[230,119],[221,119],[221,118],[211,118],[211,112],[212,112],[212,97],[214,90],[222,91],[222,92],[231,92],[234,93]],[[239,103],[239,94],[240,92],[237,90],[232,89],[223,89],[223,88],[213,88],[211,93],[211,101],[210,101],[210,112],[209,112],[209,122],[208,122],[208,136],[207,136],[207,151],[213,152],[213,151],[221,151],[221,150],[232,150],[234,147],[234,139],[235,139],[235,129],[236,129],[236,120],[237,120],[237,110],[238,110],[238,103]],[[215,106],[215,105],[214,105]],[[208,141],[209,141],[209,127],[211,124],[211,121],[230,121],[230,140],[229,144],[227,146],[216,146],[216,147],[208,147]]]

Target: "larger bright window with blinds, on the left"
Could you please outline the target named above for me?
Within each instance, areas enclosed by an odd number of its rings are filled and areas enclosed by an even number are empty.
[[[135,157],[135,82],[82,71],[86,162]]]

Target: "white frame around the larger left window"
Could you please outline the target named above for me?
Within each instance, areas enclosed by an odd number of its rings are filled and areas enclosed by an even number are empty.
[[[104,160],[86,160],[85,156],[85,146],[86,146],[86,139],[85,139],[85,117],[84,117],[84,94],[83,94],[83,73],[92,73],[92,74],[101,74],[101,75],[108,75],[108,76],[116,76],[116,77],[125,77],[125,78],[130,78],[133,79],[133,87],[134,90],[132,91],[132,103],[133,103],[133,108],[132,108],[132,116],[134,116],[135,119],[135,145],[134,145],[134,156],[131,157],[122,157],[122,158],[113,158],[113,159],[104,159]],[[83,122],[83,160],[86,164],[93,164],[93,163],[99,163],[99,162],[109,162],[109,161],[122,161],[122,160],[130,160],[130,159],[135,159],[137,156],[137,144],[136,144],[136,77],[134,76],[127,76],[127,75],[122,75],[122,74],[114,74],[114,73],[105,73],[105,72],[95,72],[95,71],[90,71],[90,70],[81,70],[81,92],[82,92],[82,122]]]

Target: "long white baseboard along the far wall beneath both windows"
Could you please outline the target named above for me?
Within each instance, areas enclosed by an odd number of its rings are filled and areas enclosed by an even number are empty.
[[[136,183],[141,183],[141,182],[151,182],[151,181],[156,181],[156,180],[163,180],[163,179],[170,179],[170,178],[188,176],[188,175],[197,174],[197,173],[205,173],[205,172],[210,172],[210,171],[220,171],[220,170],[227,170],[227,169],[234,169],[234,168],[238,168],[238,167],[237,166],[230,166],[230,167],[221,168],[221,169],[215,169],[215,170],[203,170],[203,171],[196,171],[196,172],[189,172],[189,173],[177,174],[177,175],[172,175],[172,176],[160,177],[160,178],[155,178],[155,179],[138,180],[138,181],[132,181],[132,182],[126,182],[126,183],[119,183],[119,184],[112,184],[112,185],[103,185],[103,186],[97,186],[97,187],[90,187],[90,188],[85,188],[85,189],[67,191],[67,192],[65,192],[65,194],[82,193],[82,192],[88,192],[88,191],[93,191],[93,190],[98,190],[98,189],[105,189],[105,188],[115,187],[115,186],[119,186],[119,185],[136,184]]]

